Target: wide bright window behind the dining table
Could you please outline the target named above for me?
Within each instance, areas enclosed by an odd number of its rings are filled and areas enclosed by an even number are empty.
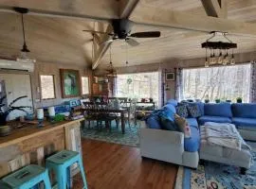
[[[150,98],[158,102],[158,72],[118,75],[117,96]]]

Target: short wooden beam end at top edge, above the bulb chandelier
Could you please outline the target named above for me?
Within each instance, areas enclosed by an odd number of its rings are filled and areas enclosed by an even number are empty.
[[[206,13],[212,17],[227,18],[226,0],[201,0]]]

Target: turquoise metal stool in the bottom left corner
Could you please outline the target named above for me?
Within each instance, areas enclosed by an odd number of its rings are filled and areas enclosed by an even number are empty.
[[[10,189],[38,188],[38,184],[42,181],[46,189],[51,189],[48,170],[36,164],[27,165],[1,180],[5,185],[3,188]]]

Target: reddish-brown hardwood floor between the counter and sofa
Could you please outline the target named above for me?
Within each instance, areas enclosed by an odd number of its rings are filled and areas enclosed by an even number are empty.
[[[89,189],[174,188],[177,166],[141,160],[137,147],[82,139],[82,156]],[[82,188],[80,174],[73,188]]]

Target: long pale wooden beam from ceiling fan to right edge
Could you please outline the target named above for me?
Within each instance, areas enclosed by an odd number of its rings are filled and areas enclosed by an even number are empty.
[[[130,20],[140,25],[164,26],[194,31],[222,31],[232,34],[256,35],[256,25],[223,18],[204,17],[186,12],[153,9],[137,5]]]

